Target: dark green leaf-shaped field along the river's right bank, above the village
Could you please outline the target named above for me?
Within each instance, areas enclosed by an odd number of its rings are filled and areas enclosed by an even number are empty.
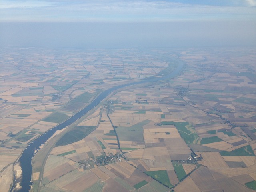
[[[56,146],[62,146],[77,142],[85,138],[90,132],[92,132],[96,126],[75,126],[70,132],[67,132],[58,142]]]

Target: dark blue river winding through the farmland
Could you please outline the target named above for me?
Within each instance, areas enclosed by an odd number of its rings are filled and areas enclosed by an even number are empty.
[[[176,76],[183,68],[184,63],[181,60],[177,60],[177,59],[170,59],[168,58],[169,62],[175,62],[176,64],[178,64],[178,67],[172,71],[170,74],[166,75],[166,76],[162,76],[162,77],[149,77],[149,78],[145,78],[139,82],[132,82],[132,83],[128,83],[128,84],[124,84],[124,85],[119,85],[119,86],[114,86],[108,90],[103,91],[102,93],[100,93],[88,106],[86,106],[85,108],[83,108],[82,110],[80,110],[78,113],[74,114],[72,117],[70,117],[69,119],[65,120],[64,122],[58,124],[57,126],[51,128],[50,130],[48,130],[47,132],[44,132],[44,134],[42,134],[41,136],[39,136],[38,138],[36,138],[35,140],[33,140],[22,152],[19,162],[20,162],[20,166],[22,169],[22,178],[21,180],[16,180],[14,181],[14,184],[12,186],[12,190],[14,191],[14,187],[17,183],[19,183],[22,188],[15,190],[18,192],[28,192],[30,190],[30,185],[33,184],[33,182],[31,181],[31,175],[32,175],[32,156],[34,155],[34,152],[36,150],[39,150],[39,147],[44,144],[57,130],[61,130],[63,128],[65,128],[66,126],[74,123],[76,120],[78,120],[79,118],[81,118],[82,116],[84,116],[87,112],[89,112],[90,110],[92,110],[94,107],[96,107],[98,104],[100,104],[100,102],[106,98],[106,96],[108,96],[111,92],[113,92],[114,90],[118,90],[120,88],[126,87],[126,86],[132,86],[132,85],[137,85],[137,84],[143,84],[143,83],[150,83],[150,82],[156,82],[156,81],[160,81],[160,80],[165,80],[165,79],[169,79],[169,78],[173,78],[174,76]]]

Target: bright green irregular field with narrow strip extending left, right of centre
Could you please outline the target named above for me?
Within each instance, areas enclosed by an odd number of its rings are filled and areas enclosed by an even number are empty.
[[[180,136],[183,138],[183,140],[186,142],[186,144],[193,144],[194,140],[197,140],[198,134],[196,132],[191,132],[192,128],[188,130],[186,126],[189,126],[188,122],[173,122],[173,121],[162,121],[162,125],[174,125],[180,134]]]

